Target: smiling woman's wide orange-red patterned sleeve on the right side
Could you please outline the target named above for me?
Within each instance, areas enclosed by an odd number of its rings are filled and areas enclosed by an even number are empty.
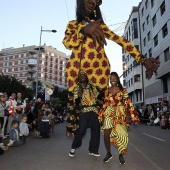
[[[124,108],[126,115],[130,115],[131,121],[135,124],[139,123],[139,113],[136,111],[133,103],[131,102],[127,90],[123,89],[123,98],[124,98]]]

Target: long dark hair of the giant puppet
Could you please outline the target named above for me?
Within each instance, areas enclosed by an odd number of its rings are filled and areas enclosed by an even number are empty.
[[[91,13],[88,17],[90,20],[94,19],[95,21],[98,19],[102,19],[103,22],[103,17],[100,11],[100,8],[98,5],[96,5],[96,17],[94,16],[94,13]],[[85,5],[84,5],[84,0],[77,0],[77,7],[76,7],[76,19],[78,22],[82,22],[85,20],[85,17],[87,17]]]

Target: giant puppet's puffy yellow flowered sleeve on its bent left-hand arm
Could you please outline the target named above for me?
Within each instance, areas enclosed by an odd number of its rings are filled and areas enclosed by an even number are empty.
[[[69,50],[81,44],[83,37],[80,36],[80,30],[85,24],[78,23],[77,21],[70,21],[66,27],[63,44]]]

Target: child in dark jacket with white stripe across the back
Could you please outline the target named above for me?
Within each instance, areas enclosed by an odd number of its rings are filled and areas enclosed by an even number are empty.
[[[45,115],[42,118],[40,124],[40,137],[49,138],[50,137],[50,118],[52,116],[51,111],[45,111]]]

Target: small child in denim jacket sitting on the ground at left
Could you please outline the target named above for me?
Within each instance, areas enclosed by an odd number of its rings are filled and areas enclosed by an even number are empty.
[[[20,146],[23,142],[19,139],[19,131],[18,131],[19,122],[17,120],[13,120],[10,132],[9,132],[9,143],[7,146]]]

